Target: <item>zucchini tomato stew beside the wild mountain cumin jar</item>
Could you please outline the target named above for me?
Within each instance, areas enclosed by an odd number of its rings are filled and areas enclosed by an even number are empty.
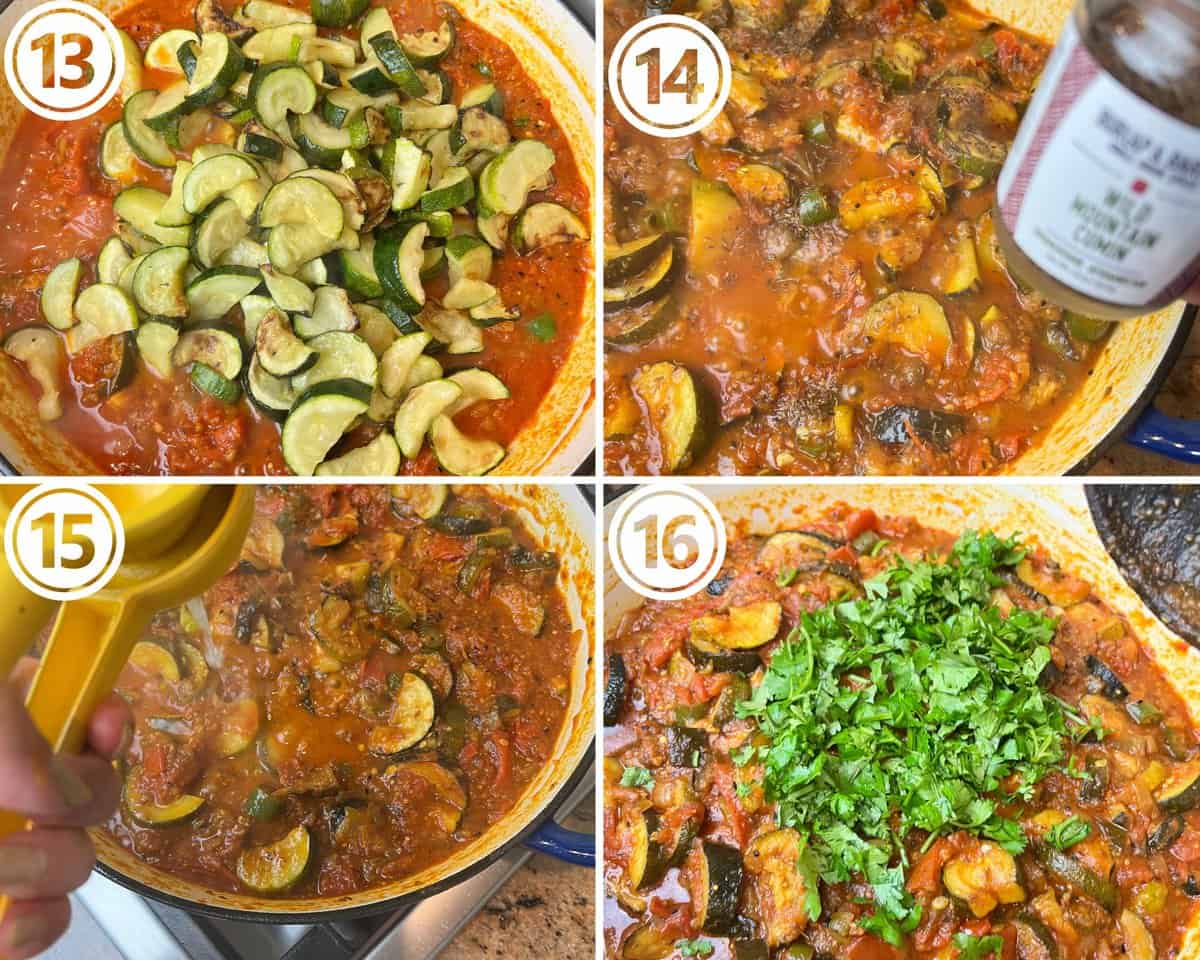
[[[995,178],[1048,47],[942,0],[607,0],[689,12],[724,113],[606,112],[613,473],[978,474],[1070,402],[1108,325],[1007,272]]]

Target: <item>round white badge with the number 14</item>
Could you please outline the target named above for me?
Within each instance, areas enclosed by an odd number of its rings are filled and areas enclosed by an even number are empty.
[[[725,108],[733,70],[720,38],[691,17],[667,13],[631,26],[608,58],[608,94],[652,137],[698,133]]]

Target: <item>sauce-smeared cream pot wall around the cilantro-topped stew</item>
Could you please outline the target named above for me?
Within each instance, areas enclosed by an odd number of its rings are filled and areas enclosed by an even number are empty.
[[[732,538],[734,532],[763,534],[803,526],[835,503],[870,508],[881,516],[917,517],[932,528],[960,533],[973,528],[1000,534],[1021,534],[1044,547],[1064,569],[1092,584],[1114,611],[1127,617],[1170,684],[1187,704],[1193,724],[1200,725],[1200,650],[1168,630],[1105,552],[1092,523],[1080,484],[836,484],[804,485],[697,485],[713,499]],[[607,523],[620,499],[608,504]],[[622,616],[643,600],[622,583],[605,553],[604,624],[612,635]],[[1200,905],[1180,917],[1186,926],[1178,960],[1200,960]]]

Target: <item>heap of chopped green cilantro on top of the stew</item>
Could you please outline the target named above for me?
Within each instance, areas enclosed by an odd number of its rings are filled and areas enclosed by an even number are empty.
[[[1015,539],[967,532],[942,562],[896,558],[865,598],[803,614],[737,708],[766,742],[734,763],[763,764],[767,799],[805,838],[816,875],[866,880],[863,925],[896,946],[920,918],[908,833],[967,830],[1018,853],[1021,827],[997,800],[1030,799],[1067,758],[1067,716],[1038,685],[1055,620],[991,604],[1024,556]]]

